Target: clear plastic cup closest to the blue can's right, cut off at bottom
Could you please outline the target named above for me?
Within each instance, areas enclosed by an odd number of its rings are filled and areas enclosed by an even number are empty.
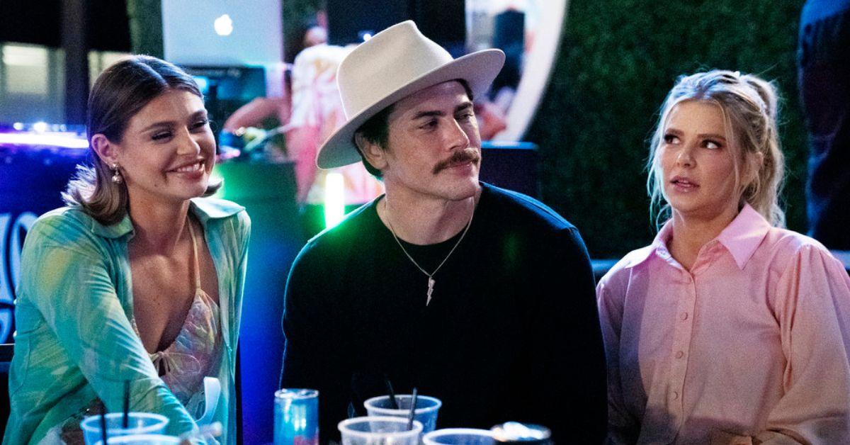
[[[343,445],[419,445],[422,423],[413,421],[407,429],[407,420],[398,417],[355,417],[337,425],[343,436]]]

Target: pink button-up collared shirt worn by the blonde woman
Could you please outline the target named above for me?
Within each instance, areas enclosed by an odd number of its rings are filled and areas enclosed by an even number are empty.
[[[671,236],[668,222],[597,288],[609,442],[850,444],[841,263],[750,206],[691,271]]]

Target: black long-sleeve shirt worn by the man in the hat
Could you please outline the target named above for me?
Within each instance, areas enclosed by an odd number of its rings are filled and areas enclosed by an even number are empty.
[[[600,443],[604,351],[587,250],[542,203],[484,184],[466,236],[433,276],[377,216],[378,200],[311,240],[286,285],[281,385],[320,391],[322,442],[349,404],[417,386],[443,401],[437,427],[546,425],[563,443]],[[433,271],[456,237],[405,243]]]

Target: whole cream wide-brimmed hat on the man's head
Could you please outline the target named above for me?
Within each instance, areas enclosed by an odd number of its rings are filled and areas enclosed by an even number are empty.
[[[453,59],[411,20],[378,32],[339,65],[337,85],[347,121],[320,147],[316,164],[335,168],[360,162],[354,132],[370,117],[416,91],[450,80],[463,79],[473,94],[484,94],[504,63],[499,49]]]

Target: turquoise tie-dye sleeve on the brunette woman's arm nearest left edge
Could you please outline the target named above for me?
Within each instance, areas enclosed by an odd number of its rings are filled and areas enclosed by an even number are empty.
[[[131,410],[167,416],[170,433],[193,430],[190,414],[133,332],[116,295],[113,263],[92,237],[88,227],[57,217],[40,220],[26,238],[20,293],[57,339],[44,346],[69,357],[109,411],[122,409],[123,382],[129,380]]]

